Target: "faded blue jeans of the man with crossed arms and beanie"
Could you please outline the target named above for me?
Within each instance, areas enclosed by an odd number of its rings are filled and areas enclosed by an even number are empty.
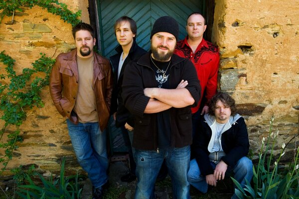
[[[190,184],[187,181],[190,146],[160,149],[159,153],[135,149],[135,199],[154,199],[154,184],[164,159],[171,177],[173,199],[190,199]]]

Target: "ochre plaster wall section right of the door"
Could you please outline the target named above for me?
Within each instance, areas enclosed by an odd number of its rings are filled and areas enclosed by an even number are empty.
[[[299,0],[215,0],[213,42],[220,46],[219,87],[246,117],[251,149],[279,130],[277,149],[298,133]],[[289,148],[295,148],[295,140]],[[288,158],[293,153],[290,152]]]

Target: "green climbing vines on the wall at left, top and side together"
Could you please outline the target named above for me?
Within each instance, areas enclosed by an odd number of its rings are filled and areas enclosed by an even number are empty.
[[[74,13],[58,0],[1,0],[0,23],[5,15],[11,16],[13,23],[16,11],[23,11],[24,7],[32,8],[35,5],[59,15],[73,26],[80,22],[78,18],[81,16],[81,10]],[[4,51],[0,53],[0,62],[5,66],[6,72],[0,74],[0,119],[4,121],[4,125],[0,127],[0,151],[3,151],[0,153],[0,176],[13,157],[16,142],[22,141],[19,126],[26,118],[26,111],[43,106],[40,92],[49,84],[49,74],[55,60],[43,53],[40,55],[41,57],[32,63],[32,68],[25,68],[22,74],[16,75],[13,69],[15,60]],[[41,75],[42,73],[44,75]],[[14,130],[8,131],[9,126],[14,126]]]

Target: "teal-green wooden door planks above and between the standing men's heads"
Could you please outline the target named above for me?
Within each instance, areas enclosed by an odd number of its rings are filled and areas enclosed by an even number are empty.
[[[137,22],[137,43],[146,50],[150,48],[150,31],[160,16],[172,16],[179,23],[179,39],[186,36],[186,18],[194,11],[203,14],[205,0],[99,0],[100,38],[102,54],[109,58],[118,46],[113,25],[127,15]]]

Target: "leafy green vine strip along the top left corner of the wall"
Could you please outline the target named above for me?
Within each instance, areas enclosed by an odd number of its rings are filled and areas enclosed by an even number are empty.
[[[12,16],[12,23],[15,11],[22,12],[23,7],[32,8],[35,5],[40,6],[42,9],[47,9],[49,13],[60,16],[64,22],[70,23],[72,26],[80,22],[78,18],[81,16],[81,10],[73,13],[67,8],[65,3],[61,3],[58,0],[1,0],[0,23],[5,15]]]

